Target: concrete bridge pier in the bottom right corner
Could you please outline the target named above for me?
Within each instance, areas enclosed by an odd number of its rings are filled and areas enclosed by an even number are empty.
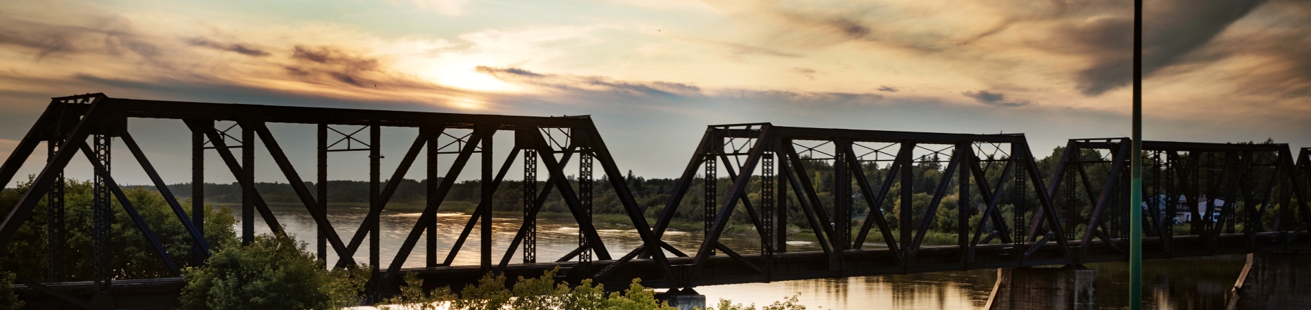
[[[1311,252],[1248,254],[1228,309],[1311,309],[1308,264]]]

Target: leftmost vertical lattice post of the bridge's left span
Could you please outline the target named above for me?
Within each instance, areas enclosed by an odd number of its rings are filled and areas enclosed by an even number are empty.
[[[59,139],[52,139],[47,141],[49,156],[46,162],[51,162],[55,158],[55,153],[63,148],[64,141]],[[47,262],[47,279],[51,283],[58,283],[64,280],[64,170],[54,171],[55,179],[50,182],[50,191],[46,192],[46,252],[49,255]]]

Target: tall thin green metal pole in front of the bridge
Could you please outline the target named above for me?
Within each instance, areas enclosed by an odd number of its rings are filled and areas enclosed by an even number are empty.
[[[1143,0],[1134,0],[1134,136],[1129,156],[1129,309],[1143,307]]]

